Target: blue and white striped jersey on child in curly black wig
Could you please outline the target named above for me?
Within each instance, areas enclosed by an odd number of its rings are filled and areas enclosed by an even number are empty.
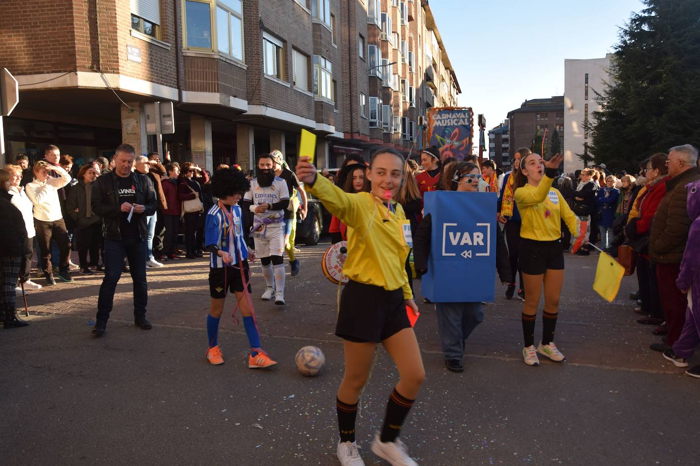
[[[228,207],[228,206],[227,206]],[[216,245],[222,251],[228,252],[233,257],[233,263],[229,265],[235,265],[239,263],[239,252],[243,259],[248,259],[248,248],[246,247],[246,242],[243,239],[243,219],[241,217],[241,207],[234,205],[230,208],[231,217],[233,219],[233,231],[232,231],[232,241],[230,240],[229,232],[231,225],[227,215],[218,203],[214,204],[209,212],[207,212],[207,219],[204,222],[204,244],[209,247],[211,245]],[[233,247],[231,247],[230,242],[233,242]],[[221,257],[211,254],[211,259],[209,259],[209,267],[211,268],[223,268],[225,264]]]

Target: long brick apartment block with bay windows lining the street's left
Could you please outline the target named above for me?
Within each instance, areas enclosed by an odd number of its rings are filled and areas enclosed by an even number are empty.
[[[20,83],[6,161],[53,143],[79,164],[123,141],[249,168],[276,148],[294,163],[308,129],[332,168],[380,145],[416,154],[426,109],[460,92],[425,0],[6,0],[0,20]],[[174,104],[162,140],[154,101]]]

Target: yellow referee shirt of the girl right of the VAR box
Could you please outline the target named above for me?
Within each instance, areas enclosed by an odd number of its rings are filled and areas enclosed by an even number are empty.
[[[554,178],[546,174],[540,185],[526,184],[515,190],[515,203],[522,218],[520,237],[535,241],[555,241],[561,238],[561,219],[572,235],[578,236],[576,214],[559,190],[552,188]]]

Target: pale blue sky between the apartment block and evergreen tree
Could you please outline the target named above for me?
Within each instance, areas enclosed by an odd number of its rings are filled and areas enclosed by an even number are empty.
[[[564,59],[605,57],[640,0],[433,0],[462,89],[489,129],[526,99],[564,92]],[[476,136],[476,135],[475,135]]]

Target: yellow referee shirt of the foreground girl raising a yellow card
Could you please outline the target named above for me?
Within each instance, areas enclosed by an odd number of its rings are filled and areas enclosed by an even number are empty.
[[[401,205],[393,203],[391,212],[373,194],[346,193],[323,176],[307,191],[348,227],[346,277],[388,291],[401,288],[405,299],[413,299],[405,269],[411,230]]]

